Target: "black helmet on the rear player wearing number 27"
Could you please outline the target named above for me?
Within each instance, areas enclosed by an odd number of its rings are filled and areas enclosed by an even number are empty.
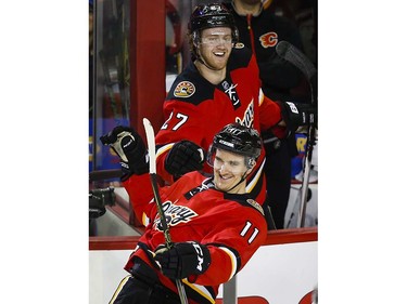
[[[239,40],[239,30],[234,24],[233,15],[221,3],[199,4],[192,11],[188,23],[188,30],[193,43],[192,53],[196,55],[195,48],[201,39],[201,31],[212,27],[230,27],[233,43]]]

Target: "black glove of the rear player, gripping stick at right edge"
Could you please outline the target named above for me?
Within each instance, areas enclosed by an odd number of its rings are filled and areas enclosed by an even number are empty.
[[[317,107],[309,104],[278,102],[281,108],[281,116],[289,132],[295,132],[298,127],[314,123],[317,125]]]

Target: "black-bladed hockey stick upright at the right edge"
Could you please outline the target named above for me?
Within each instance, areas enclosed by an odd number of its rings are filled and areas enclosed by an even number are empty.
[[[318,105],[317,101],[317,69],[307,56],[287,41],[280,41],[276,47],[277,54],[289,63],[297,67],[306,77],[310,88],[310,104]],[[307,149],[305,151],[305,161],[303,166],[303,182],[301,185],[301,204],[297,227],[304,227],[306,201],[309,184],[310,161],[313,158],[313,149],[315,144],[315,121],[314,116],[310,117],[310,123],[307,134]]]

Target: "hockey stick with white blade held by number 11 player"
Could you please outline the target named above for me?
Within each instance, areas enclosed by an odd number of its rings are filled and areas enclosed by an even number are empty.
[[[153,187],[154,199],[157,206],[157,210],[160,213],[160,221],[163,226],[163,233],[165,238],[165,244],[168,249],[173,248],[173,241],[169,235],[169,227],[167,225],[167,221],[165,219],[164,210],[163,210],[163,202],[160,197],[158,193],[158,183],[157,183],[157,175],[156,175],[156,157],[155,157],[155,136],[154,136],[154,129],[151,124],[150,120],[143,118],[143,124],[147,135],[147,144],[149,148],[149,158],[150,158],[150,180],[151,185]],[[181,300],[181,304],[188,304],[188,299],[186,294],[186,290],[180,279],[175,280],[177,283],[177,289],[179,293],[179,299]]]

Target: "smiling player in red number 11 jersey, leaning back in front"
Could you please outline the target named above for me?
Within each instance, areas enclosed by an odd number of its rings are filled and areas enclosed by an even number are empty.
[[[116,127],[101,137],[120,160],[124,186],[136,215],[145,225],[110,303],[180,303],[181,279],[190,304],[215,303],[218,287],[231,279],[265,241],[262,207],[245,191],[246,177],[262,151],[254,129],[226,125],[212,142],[207,162],[213,174],[189,172],[160,196],[174,247],[167,249],[145,160],[145,146],[131,128]]]

